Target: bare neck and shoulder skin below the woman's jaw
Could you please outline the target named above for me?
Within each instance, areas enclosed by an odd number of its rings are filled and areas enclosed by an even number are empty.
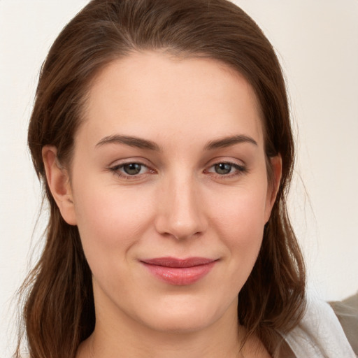
[[[194,324],[190,326],[174,315],[177,326],[169,322],[169,326],[164,327],[163,322],[152,327],[117,307],[106,295],[100,296],[101,291],[96,292],[96,326],[80,345],[77,358],[270,357],[255,336],[250,336],[243,345],[246,331],[238,324],[237,299],[210,323],[207,317],[198,317],[196,323],[190,320]],[[153,317],[148,322],[154,322]]]

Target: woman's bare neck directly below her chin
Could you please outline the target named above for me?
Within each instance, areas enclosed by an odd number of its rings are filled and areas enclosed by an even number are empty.
[[[78,358],[238,358],[245,330],[238,325],[236,303],[220,320],[193,331],[157,331],[122,315],[96,315],[96,327],[80,346]]]

